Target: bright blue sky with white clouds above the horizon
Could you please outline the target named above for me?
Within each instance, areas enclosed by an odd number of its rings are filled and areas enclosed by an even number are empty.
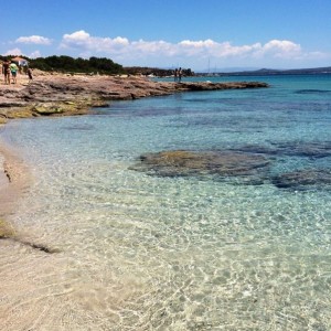
[[[0,0],[0,12],[1,55],[213,72],[331,66],[331,0]]]

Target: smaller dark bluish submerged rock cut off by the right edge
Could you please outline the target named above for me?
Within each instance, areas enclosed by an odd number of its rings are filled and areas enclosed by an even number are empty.
[[[274,177],[271,182],[280,189],[308,190],[311,188],[331,189],[331,170],[328,169],[309,169],[293,172],[286,172]]]

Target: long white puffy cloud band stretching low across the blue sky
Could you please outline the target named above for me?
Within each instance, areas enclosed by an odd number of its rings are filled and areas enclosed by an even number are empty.
[[[218,43],[211,39],[201,41],[184,40],[179,43],[169,43],[166,41],[129,41],[126,38],[117,36],[99,38],[92,36],[84,30],[72,34],[64,34],[62,47],[81,49],[82,52],[95,51],[115,54],[135,55],[143,53],[145,55],[159,53],[160,56],[173,55],[202,55],[215,57],[231,56],[275,56],[288,57],[301,54],[301,46],[291,41],[271,40],[266,44],[255,43],[252,45],[233,45],[229,42]]]

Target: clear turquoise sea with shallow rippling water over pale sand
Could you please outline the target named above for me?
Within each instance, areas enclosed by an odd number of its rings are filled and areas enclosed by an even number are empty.
[[[2,330],[331,330],[331,75],[192,79],[269,87],[1,129],[32,177]]]

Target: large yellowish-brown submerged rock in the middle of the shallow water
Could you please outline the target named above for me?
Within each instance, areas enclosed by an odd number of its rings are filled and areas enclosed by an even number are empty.
[[[249,177],[268,164],[269,160],[257,154],[171,150],[143,154],[131,169],[161,177]]]

